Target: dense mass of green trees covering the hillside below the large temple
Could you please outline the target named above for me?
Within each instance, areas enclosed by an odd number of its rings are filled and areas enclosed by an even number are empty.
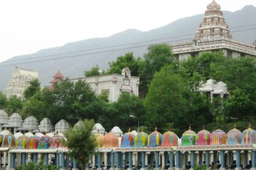
[[[85,74],[121,73],[129,67],[132,75],[140,76],[140,97],[124,93],[118,101],[109,103],[105,94],[96,97],[84,81],[74,83],[66,79],[55,84],[54,90],[38,90],[38,83],[30,84],[34,87],[26,91],[32,95],[25,100],[7,100],[0,93],[0,107],[9,114],[17,111],[23,117],[49,117],[53,124],[62,118],[72,125],[79,119],[93,119],[106,131],[113,126],[124,132],[129,127],[137,128],[137,120],[129,115],[138,117],[148,132],[158,126],[159,131],[172,130],[178,135],[189,125],[194,131],[203,126],[209,131],[227,131],[233,123],[241,130],[249,121],[256,123],[256,60],[249,56],[230,58],[222,52],[202,52],[195,58],[176,61],[168,45],[158,44],[149,46],[142,58],[127,53],[109,65],[105,72],[99,73],[96,66]],[[210,78],[226,83],[229,97],[221,100],[215,96],[210,103],[207,95],[200,94],[199,84]]]

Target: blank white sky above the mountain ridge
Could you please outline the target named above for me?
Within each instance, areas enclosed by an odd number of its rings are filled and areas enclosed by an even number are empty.
[[[106,37],[127,29],[152,30],[204,13],[212,0],[3,0],[0,1],[0,62],[16,55]],[[255,0],[216,0],[236,11]]]

